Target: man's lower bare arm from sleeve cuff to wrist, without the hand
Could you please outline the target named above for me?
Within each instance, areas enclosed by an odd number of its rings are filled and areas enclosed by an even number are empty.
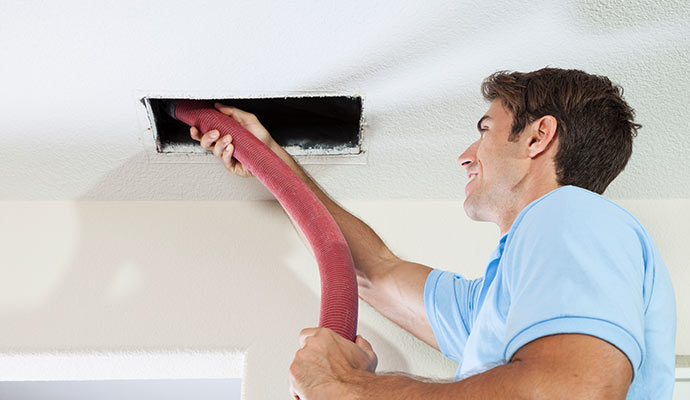
[[[371,377],[370,377],[371,378]],[[587,335],[547,336],[511,362],[450,384],[395,376],[364,378],[352,399],[625,399],[632,367],[613,345]],[[347,398],[347,397],[346,397]]]

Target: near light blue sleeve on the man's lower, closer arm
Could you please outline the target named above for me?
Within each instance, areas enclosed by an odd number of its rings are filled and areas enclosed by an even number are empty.
[[[505,360],[540,337],[579,333],[616,346],[636,373],[645,348],[645,255],[635,228],[611,212],[558,207],[525,217],[514,233],[504,255]]]

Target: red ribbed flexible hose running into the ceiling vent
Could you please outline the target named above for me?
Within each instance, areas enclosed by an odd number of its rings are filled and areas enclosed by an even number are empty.
[[[321,276],[319,326],[351,341],[357,336],[357,279],[345,237],[326,207],[272,150],[208,103],[180,100],[175,118],[201,132],[231,135],[233,157],[246,166],[299,225],[316,256]]]

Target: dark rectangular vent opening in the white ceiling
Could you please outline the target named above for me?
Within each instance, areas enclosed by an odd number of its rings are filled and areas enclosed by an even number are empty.
[[[189,127],[170,117],[168,100],[143,99],[159,153],[206,153]],[[352,96],[201,99],[255,114],[273,139],[293,156],[357,155],[362,152],[362,98]]]

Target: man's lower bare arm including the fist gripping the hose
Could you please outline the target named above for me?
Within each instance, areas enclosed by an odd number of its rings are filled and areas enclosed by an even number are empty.
[[[313,338],[302,339],[306,345],[290,367],[291,390],[303,399],[622,400],[632,380],[628,358],[610,343],[589,335],[545,336],[520,348],[505,365],[454,383],[428,383],[376,375],[362,367],[343,368],[367,365],[368,344],[360,343],[358,352],[356,345],[335,333],[307,333]],[[361,359],[358,354],[363,354]]]

